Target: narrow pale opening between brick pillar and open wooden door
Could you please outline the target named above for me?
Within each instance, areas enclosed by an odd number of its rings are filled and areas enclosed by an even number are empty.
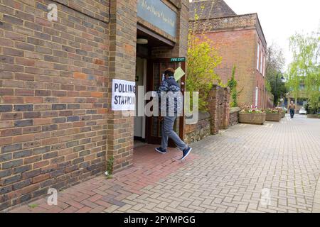
[[[146,58],[136,58],[136,115],[134,116],[134,148],[146,143],[146,116],[139,116],[138,110],[143,110],[146,94]],[[139,89],[143,86],[143,89]],[[142,94],[143,92],[143,94]],[[140,111],[141,113],[141,111]]]

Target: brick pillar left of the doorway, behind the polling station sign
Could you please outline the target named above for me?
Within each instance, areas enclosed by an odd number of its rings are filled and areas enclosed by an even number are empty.
[[[114,157],[116,172],[132,165],[134,117],[111,110],[112,79],[134,82],[136,45],[137,0],[111,0],[107,158]]]

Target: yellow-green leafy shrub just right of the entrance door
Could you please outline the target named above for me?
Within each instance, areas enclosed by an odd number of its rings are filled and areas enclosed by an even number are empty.
[[[212,41],[205,35],[199,38],[192,32],[188,34],[186,89],[188,92],[199,92],[200,111],[207,110],[208,93],[213,84],[220,83],[220,78],[214,69],[220,64],[221,57],[213,46]],[[192,99],[191,106],[193,106]]]

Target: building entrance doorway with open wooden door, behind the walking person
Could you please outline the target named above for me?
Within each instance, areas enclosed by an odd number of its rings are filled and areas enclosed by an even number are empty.
[[[143,26],[137,26],[137,57],[136,57],[136,116],[134,117],[134,148],[137,148],[141,143],[160,144],[161,143],[161,122],[159,117],[138,116],[144,106],[152,100],[144,100],[146,92],[157,91],[159,89],[162,74],[166,68],[181,67],[186,72],[185,62],[174,62],[171,58],[161,57],[166,55],[171,56],[169,52],[176,45],[171,40],[168,40],[161,35],[156,34]],[[161,50],[161,51],[159,51]],[[181,56],[172,56],[181,57]],[[181,91],[185,89],[185,76],[178,80]],[[143,90],[139,86],[144,86]],[[143,94],[142,94],[143,93]],[[140,109],[140,111],[139,111]],[[176,119],[174,130],[183,139],[184,118],[183,116]],[[174,143],[169,139],[169,146]]]

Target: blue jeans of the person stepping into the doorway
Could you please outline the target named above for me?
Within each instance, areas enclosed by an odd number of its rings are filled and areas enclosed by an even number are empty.
[[[168,139],[171,138],[180,150],[184,150],[187,148],[187,145],[174,131],[174,121],[176,121],[176,116],[165,116],[162,121],[161,148],[168,148]]]

